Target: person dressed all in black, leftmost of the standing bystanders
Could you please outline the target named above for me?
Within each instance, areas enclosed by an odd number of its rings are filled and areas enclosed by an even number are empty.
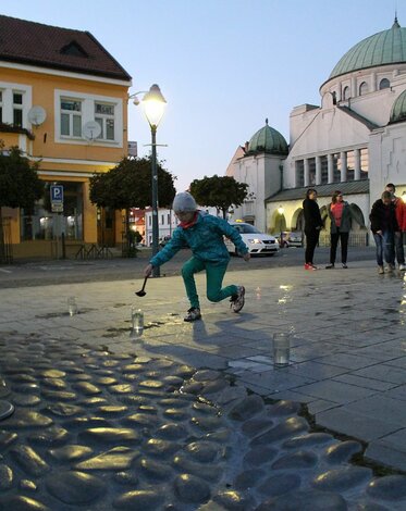
[[[320,209],[317,203],[317,191],[309,188],[306,192],[306,199],[303,201],[303,211],[305,215],[305,270],[317,270],[313,264],[313,256],[317,244],[319,242],[320,229],[323,227]]]

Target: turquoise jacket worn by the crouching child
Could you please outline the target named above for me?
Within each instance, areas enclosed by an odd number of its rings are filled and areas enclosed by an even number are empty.
[[[230,261],[230,253],[223,236],[233,241],[242,256],[248,252],[238,230],[229,222],[201,211],[198,213],[194,225],[187,228],[181,226],[175,228],[171,240],[149,261],[152,266],[160,266],[172,259],[179,250],[187,247],[190,248],[194,257],[201,261],[226,264]]]

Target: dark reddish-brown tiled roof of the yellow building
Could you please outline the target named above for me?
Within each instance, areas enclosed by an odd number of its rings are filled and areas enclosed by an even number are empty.
[[[88,32],[0,15],[0,60],[131,80]]]

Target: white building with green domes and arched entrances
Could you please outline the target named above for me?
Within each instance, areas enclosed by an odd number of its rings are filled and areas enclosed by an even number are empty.
[[[318,189],[324,217],[324,207],[339,189],[356,213],[355,229],[367,232],[371,204],[385,185],[394,183],[397,196],[406,192],[406,115],[394,119],[396,100],[406,105],[406,43],[403,53],[396,53],[396,43],[402,41],[401,36],[406,28],[395,20],[391,29],[365,40],[371,39],[369,46],[356,45],[320,87],[321,105],[293,109],[287,157],[247,151],[234,161],[234,177],[251,192],[236,210],[243,220],[250,215],[270,233],[300,229],[306,188]],[[354,63],[358,50],[369,63],[365,68]],[[387,53],[389,62],[382,61]]]

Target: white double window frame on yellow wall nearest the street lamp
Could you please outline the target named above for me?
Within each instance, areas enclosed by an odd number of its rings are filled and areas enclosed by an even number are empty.
[[[82,103],[82,137],[61,135],[61,99],[71,99]],[[96,103],[104,103],[114,108],[114,140],[97,138],[91,144],[103,147],[123,147],[123,100],[111,96],[81,94],[72,90],[54,90],[54,140],[58,144],[75,144],[87,146],[89,141],[84,137],[83,126],[99,117],[95,113]],[[112,116],[109,116],[112,119]],[[106,133],[106,132],[104,132]]]

